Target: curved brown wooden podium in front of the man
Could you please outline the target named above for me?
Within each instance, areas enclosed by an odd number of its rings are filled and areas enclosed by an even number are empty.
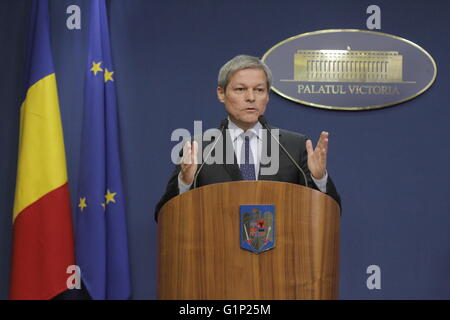
[[[240,247],[239,206],[275,206],[275,248]],[[272,181],[200,187],[168,201],[158,222],[158,299],[337,299],[339,205]]]

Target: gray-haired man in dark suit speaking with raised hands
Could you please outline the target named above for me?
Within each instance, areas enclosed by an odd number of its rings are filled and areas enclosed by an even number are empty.
[[[266,138],[270,135],[263,134],[263,127],[258,121],[269,102],[271,83],[270,69],[256,57],[240,55],[221,68],[217,96],[228,113],[228,121],[222,128],[226,129],[222,130],[224,161],[205,164],[196,178],[197,187],[237,180],[272,180],[305,185],[303,174],[284,152],[277,152],[276,159],[272,159],[276,161],[275,172],[271,172],[269,164],[262,161],[262,150],[269,150],[270,153],[274,146],[278,147],[276,140]],[[326,171],[328,132],[321,133],[316,148],[302,134],[281,129],[278,133],[279,142],[302,168],[308,186],[329,194],[340,204],[339,194]],[[165,194],[156,205],[155,219],[164,203],[193,187],[199,168],[197,152],[195,141],[184,145],[180,165],[175,168]],[[225,159],[232,153],[234,161],[227,163]]]

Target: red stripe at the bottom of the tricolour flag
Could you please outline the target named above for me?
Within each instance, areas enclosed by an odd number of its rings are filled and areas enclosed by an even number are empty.
[[[14,222],[10,299],[50,299],[67,290],[74,237],[67,183],[25,208]]]

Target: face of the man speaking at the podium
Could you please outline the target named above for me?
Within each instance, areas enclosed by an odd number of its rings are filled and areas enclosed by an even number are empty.
[[[224,91],[217,88],[217,96],[240,128],[247,130],[258,122],[269,102],[266,73],[263,69],[249,68],[236,71]]]

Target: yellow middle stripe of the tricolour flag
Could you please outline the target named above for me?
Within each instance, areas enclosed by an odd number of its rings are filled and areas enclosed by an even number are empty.
[[[55,74],[33,84],[20,110],[13,221],[30,204],[67,182]]]

